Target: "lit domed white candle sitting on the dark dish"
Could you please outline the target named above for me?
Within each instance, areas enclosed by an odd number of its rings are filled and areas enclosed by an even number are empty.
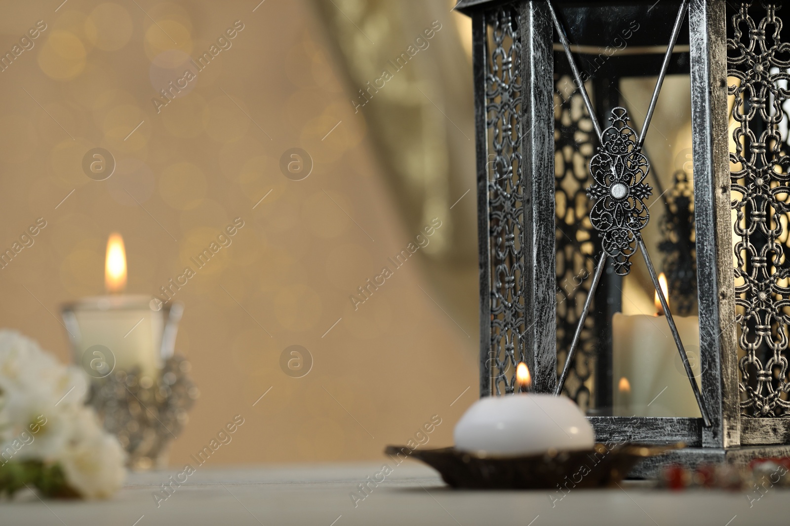
[[[584,413],[564,396],[529,391],[529,368],[516,368],[513,395],[483,397],[455,427],[458,450],[478,455],[530,455],[548,450],[592,449],[594,434]]]

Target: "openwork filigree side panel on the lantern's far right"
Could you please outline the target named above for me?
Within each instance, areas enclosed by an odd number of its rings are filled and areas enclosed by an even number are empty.
[[[781,5],[780,5],[781,6]],[[781,125],[788,96],[790,44],[781,38],[778,6],[763,4],[758,21],[751,2],[732,16],[727,41],[728,88],[734,97],[730,153],[735,211],[735,302],[739,328],[741,410],[745,416],[790,416],[788,323],[790,266],[788,168]],[[756,11],[754,12],[756,13]],[[732,82],[732,80],[731,80]]]

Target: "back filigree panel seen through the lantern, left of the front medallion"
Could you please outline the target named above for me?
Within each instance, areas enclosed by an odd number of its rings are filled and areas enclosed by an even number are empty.
[[[586,196],[587,166],[595,133],[579,91],[569,76],[555,80],[555,223],[557,227],[557,363],[566,360],[579,313],[589,294],[597,251],[589,221],[591,203]],[[592,372],[596,364],[598,334],[588,318],[579,350],[563,394],[586,410],[592,405]]]

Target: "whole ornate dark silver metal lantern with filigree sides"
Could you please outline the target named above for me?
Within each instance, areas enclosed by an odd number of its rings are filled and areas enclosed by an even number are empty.
[[[481,396],[512,393],[525,361],[535,390],[574,398],[600,442],[687,444],[641,475],[661,462],[790,455],[790,35],[780,8],[458,2],[473,24]],[[690,109],[689,170],[663,170],[662,182],[651,159],[677,145],[645,139],[661,133],[650,123],[678,75],[690,100],[664,106]],[[641,104],[624,95],[634,79],[649,86]],[[672,311],[651,251],[664,253]],[[656,399],[687,390],[694,415],[616,409],[620,361],[653,359],[646,336],[625,358],[615,352],[613,319],[634,283],[655,289],[685,382]],[[698,315],[698,336],[682,334],[678,312]]]

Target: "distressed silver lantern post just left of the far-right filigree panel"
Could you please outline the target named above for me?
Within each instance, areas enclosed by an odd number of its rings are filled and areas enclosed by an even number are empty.
[[[702,397],[711,427],[702,446],[740,446],[738,344],[728,150],[724,0],[689,6],[691,133]]]

